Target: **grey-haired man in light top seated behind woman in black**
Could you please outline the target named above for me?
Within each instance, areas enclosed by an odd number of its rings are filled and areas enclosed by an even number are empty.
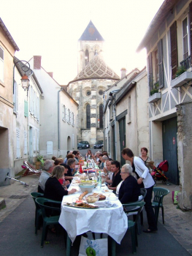
[[[47,181],[47,178],[50,178],[51,173],[53,172],[53,168],[55,167],[54,161],[47,159],[44,162],[43,170],[41,173],[41,176],[39,178],[39,184],[38,184],[38,192],[44,193],[45,191],[45,182]]]

